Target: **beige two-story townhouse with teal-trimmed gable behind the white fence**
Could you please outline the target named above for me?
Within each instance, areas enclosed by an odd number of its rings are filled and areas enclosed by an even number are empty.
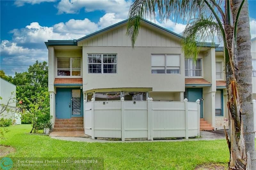
[[[54,131],[84,131],[83,101],[122,97],[130,101],[201,99],[200,129],[213,130],[218,45],[198,43],[200,53],[194,62],[182,52],[182,36],[146,20],[132,47],[126,24],[124,20],[76,40],[45,42]]]

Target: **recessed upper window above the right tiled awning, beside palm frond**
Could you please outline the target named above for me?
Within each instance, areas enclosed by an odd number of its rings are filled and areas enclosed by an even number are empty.
[[[202,59],[185,59],[185,76],[201,77],[202,76]]]

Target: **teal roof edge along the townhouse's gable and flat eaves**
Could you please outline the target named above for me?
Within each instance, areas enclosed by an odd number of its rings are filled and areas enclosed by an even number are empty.
[[[141,20],[145,24],[153,26],[153,27],[155,27],[155,28],[157,28],[157,29],[159,29],[159,30],[161,30],[163,32],[166,32],[166,33],[168,33],[168,34],[170,34],[170,35],[172,35],[172,36],[174,36],[174,37],[176,37],[178,39],[184,39],[184,37],[181,36],[180,34],[177,34],[177,33],[172,32],[172,31],[170,31],[170,30],[168,30],[168,29],[166,29],[164,27],[156,25],[156,24],[154,24],[154,23],[152,23],[152,22],[150,22],[150,21],[148,21],[146,19],[141,19]],[[77,46],[77,42],[81,42],[83,40],[92,38],[92,37],[97,36],[97,35],[99,35],[99,34],[101,34],[103,32],[109,31],[111,29],[114,29],[114,28],[116,28],[116,27],[118,27],[120,25],[126,24],[126,23],[128,23],[128,19],[125,19],[125,20],[123,20],[123,21],[121,21],[119,23],[116,23],[114,25],[111,25],[111,26],[108,26],[106,28],[103,28],[103,29],[101,29],[99,31],[93,32],[93,33],[91,33],[89,35],[86,35],[86,36],[84,36],[82,38],[79,38],[79,39],[74,39],[74,40],[48,40],[47,42],[44,42],[44,43],[45,43],[47,48],[48,48],[48,46]],[[198,47],[215,47],[215,48],[217,48],[219,46],[219,44],[215,44],[215,43],[211,43],[211,42],[198,42],[198,43],[196,43],[196,45]]]

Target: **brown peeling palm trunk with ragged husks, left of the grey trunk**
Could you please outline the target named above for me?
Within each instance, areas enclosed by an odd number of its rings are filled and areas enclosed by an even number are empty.
[[[247,167],[247,155],[245,151],[243,119],[241,112],[240,95],[238,89],[238,63],[237,46],[232,21],[232,7],[230,1],[225,1],[225,39],[224,39],[224,58],[226,65],[226,88],[228,96],[228,118],[229,118],[229,139],[226,139],[230,152],[229,169],[245,170]],[[241,3],[240,3],[241,4]],[[240,5],[239,5],[240,6]],[[239,7],[238,7],[239,8]]]

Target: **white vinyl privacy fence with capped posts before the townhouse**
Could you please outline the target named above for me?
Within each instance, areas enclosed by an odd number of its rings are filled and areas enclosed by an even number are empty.
[[[196,102],[94,101],[84,103],[85,134],[94,138],[175,138],[199,136]]]

